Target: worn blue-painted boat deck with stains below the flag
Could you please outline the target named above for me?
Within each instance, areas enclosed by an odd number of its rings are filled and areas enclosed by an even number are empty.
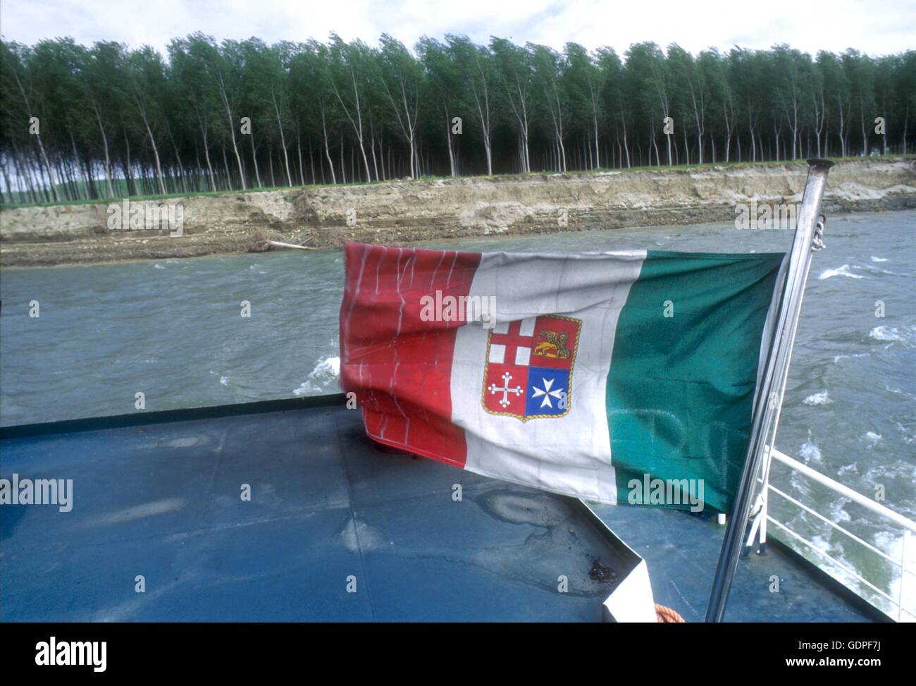
[[[340,404],[187,416],[3,434],[0,476],[72,479],[74,504],[0,507],[0,620],[598,621],[612,586],[594,560],[623,566],[573,499],[382,452]],[[648,560],[656,602],[702,620],[722,528],[599,514]],[[867,616],[769,548],[742,560],[727,618]]]

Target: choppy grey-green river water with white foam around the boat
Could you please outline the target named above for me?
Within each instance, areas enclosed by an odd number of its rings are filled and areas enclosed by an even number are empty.
[[[916,213],[837,216],[813,258],[777,446],[916,517]],[[577,251],[789,249],[791,232],[731,224],[479,238],[427,247]],[[340,251],[0,274],[0,424],[333,393]],[[40,316],[28,315],[38,301]],[[876,316],[876,301],[885,316]],[[242,317],[242,301],[251,316]],[[777,465],[772,482],[900,557],[900,532]],[[897,597],[900,574],[797,507],[776,517]],[[771,526],[771,528],[773,528]],[[916,570],[916,540],[909,548]],[[823,560],[822,560],[823,561]],[[875,581],[877,580],[877,581]],[[916,612],[916,578],[906,595]]]

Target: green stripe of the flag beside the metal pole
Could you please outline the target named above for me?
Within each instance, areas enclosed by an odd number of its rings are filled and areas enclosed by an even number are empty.
[[[702,480],[705,510],[730,511],[783,257],[649,251],[620,313],[607,375],[618,503],[690,509],[685,490],[700,495]],[[681,502],[671,502],[677,492]]]

